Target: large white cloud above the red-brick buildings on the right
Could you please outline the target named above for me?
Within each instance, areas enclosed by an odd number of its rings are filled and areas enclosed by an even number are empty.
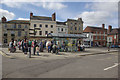
[[[100,26],[103,23],[107,26],[114,25],[114,27],[118,24],[117,2],[94,2],[86,4],[85,8],[88,8],[90,11],[84,11],[75,17],[82,17],[84,28],[86,26]]]

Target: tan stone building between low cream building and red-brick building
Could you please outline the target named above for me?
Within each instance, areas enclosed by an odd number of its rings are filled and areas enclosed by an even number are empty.
[[[81,18],[67,19],[68,34],[81,34],[83,33],[83,21]]]

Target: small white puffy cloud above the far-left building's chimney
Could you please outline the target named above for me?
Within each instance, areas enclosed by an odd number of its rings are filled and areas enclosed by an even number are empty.
[[[15,14],[4,9],[0,9],[0,18],[5,16],[7,20],[11,20],[15,17]]]

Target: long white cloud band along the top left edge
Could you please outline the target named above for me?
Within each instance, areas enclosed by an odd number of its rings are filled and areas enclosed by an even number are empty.
[[[8,0],[3,0],[1,3],[8,6],[8,7],[12,7],[12,8],[21,8],[23,7],[24,4],[32,4],[34,6],[39,6],[39,7],[43,7],[45,9],[53,9],[53,10],[60,10],[63,9],[65,7],[67,7],[66,5],[62,4],[61,2],[54,2],[55,0],[51,0],[50,2],[46,1],[46,0],[41,0],[41,2],[39,0],[21,0],[18,2],[16,0],[13,0],[12,2],[9,2]],[[62,0],[61,0],[62,1]]]

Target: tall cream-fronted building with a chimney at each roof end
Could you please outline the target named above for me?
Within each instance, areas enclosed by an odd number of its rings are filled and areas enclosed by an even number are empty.
[[[46,38],[48,33],[57,33],[56,30],[55,13],[52,14],[52,17],[34,16],[33,13],[30,13],[31,39]]]

